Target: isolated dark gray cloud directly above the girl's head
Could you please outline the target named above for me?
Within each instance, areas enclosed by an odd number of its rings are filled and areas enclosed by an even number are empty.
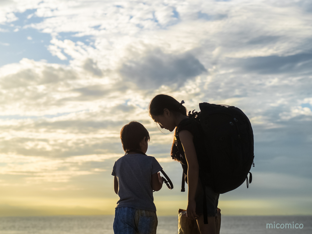
[[[189,78],[207,70],[190,53],[173,55],[155,50],[138,60],[124,63],[119,72],[125,80],[134,82],[140,88],[155,89],[173,84],[181,87]]]

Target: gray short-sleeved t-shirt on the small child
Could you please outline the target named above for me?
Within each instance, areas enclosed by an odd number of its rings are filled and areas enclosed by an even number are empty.
[[[152,189],[152,174],[163,168],[156,158],[143,154],[126,154],[113,167],[118,180],[117,207],[133,207],[156,211]]]

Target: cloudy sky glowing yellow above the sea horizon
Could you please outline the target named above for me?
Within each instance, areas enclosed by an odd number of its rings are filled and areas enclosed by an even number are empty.
[[[312,215],[312,2],[0,0],[0,216],[114,214],[120,129],[136,120],[187,206],[157,94],[234,105],[254,131],[252,183],[223,215]]]

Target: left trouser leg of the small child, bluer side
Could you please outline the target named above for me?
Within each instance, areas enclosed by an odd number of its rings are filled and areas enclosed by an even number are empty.
[[[135,209],[132,207],[117,207],[113,229],[115,234],[137,234],[134,222]]]

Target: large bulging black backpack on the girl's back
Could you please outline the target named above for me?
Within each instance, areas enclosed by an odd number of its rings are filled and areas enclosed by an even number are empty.
[[[245,180],[248,188],[248,173],[251,165],[254,166],[254,139],[249,119],[243,111],[234,106],[204,102],[199,104],[199,108],[200,112],[193,110],[191,114],[189,111],[188,117],[200,123],[205,135],[204,142],[210,168],[205,170],[205,165],[200,165],[201,181],[211,186],[215,193],[232,191]],[[176,140],[179,140],[178,132],[177,128]],[[207,171],[209,173],[205,173]],[[251,180],[250,173],[249,183]],[[181,191],[183,190],[185,191],[184,176]],[[205,213],[205,220],[207,220],[206,208],[204,208],[204,217]]]

